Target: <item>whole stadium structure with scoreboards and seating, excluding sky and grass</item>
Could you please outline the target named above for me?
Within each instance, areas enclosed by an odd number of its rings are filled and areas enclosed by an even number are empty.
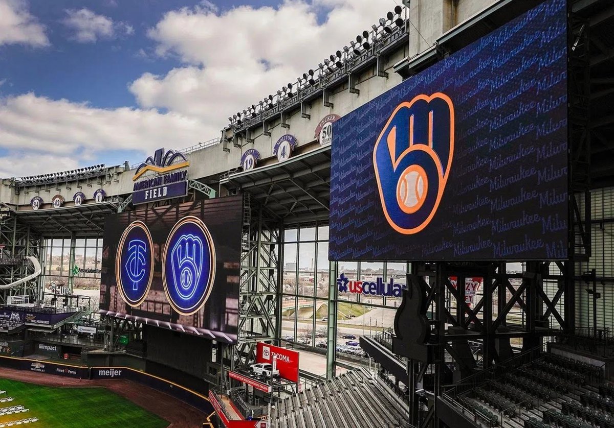
[[[217,138],[2,180],[0,377],[209,427],[614,426],[612,2],[390,3]]]

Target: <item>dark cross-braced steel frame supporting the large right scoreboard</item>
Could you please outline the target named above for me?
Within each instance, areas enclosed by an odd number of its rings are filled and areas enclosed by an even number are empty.
[[[426,373],[434,376],[435,397],[449,383],[457,383],[478,369],[468,342],[481,343],[481,367],[488,369],[511,356],[510,339],[522,339],[523,350],[543,346],[545,338],[575,331],[575,281],[580,262],[591,257],[591,126],[589,23],[569,14],[568,23],[568,132],[569,132],[569,261],[530,261],[523,273],[508,273],[503,262],[437,262],[413,264],[430,309],[424,361],[410,359],[410,424],[442,426],[437,400],[421,410],[416,385]],[[457,277],[454,287],[449,277]],[[481,277],[483,296],[470,307],[464,299],[464,278]],[[408,278],[408,284],[410,283]],[[453,365],[454,369],[449,370]],[[451,382],[450,382],[451,381]]]

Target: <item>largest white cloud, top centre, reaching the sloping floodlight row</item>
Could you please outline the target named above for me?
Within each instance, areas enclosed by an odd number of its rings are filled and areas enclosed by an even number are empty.
[[[223,13],[184,7],[149,29],[160,56],[185,66],[145,73],[130,85],[143,107],[202,117],[213,128],[254,104],[370,29],[392,1],[286,0],[279,7],[240,6]],[[325,13],[319,23],[317,13]]]

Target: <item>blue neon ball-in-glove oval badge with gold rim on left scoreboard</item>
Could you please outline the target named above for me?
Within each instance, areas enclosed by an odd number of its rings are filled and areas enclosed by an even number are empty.
[[[168,235],[162,261],[166,297],[174,310],[192,315],[211,294],[216,251],[209,229],[198,217],[179,220]]]

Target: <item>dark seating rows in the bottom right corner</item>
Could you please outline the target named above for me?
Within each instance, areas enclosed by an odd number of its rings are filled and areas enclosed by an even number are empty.
[[[614,385],[602,367],[550,353],[453,401],[478,426],[614,428]]]

